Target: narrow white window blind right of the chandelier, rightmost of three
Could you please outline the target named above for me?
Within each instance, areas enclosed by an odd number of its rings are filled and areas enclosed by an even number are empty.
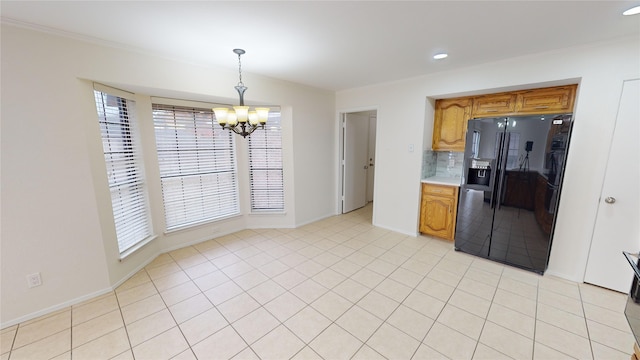
[[[283,211],[282,127],[280,110],[271,108],[264,129],[257,129],[249,140],[249,176],[252,211]]]

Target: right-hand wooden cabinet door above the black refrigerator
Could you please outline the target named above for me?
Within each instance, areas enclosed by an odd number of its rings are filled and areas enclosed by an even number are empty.
[[[558,86],[518,92],[519,114],[552,114],[573,112],[577,85]]]

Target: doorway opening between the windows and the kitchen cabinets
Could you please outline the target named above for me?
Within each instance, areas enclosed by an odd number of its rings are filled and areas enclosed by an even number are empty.
[[[373,201],[375,183],[375,110],[341,114],[341,213]]]

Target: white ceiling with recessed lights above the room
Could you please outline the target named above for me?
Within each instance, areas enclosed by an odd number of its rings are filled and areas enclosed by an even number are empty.
[[[635,1],[5,1],[2,21],[343,90],[640,35]],[[437,52],[449,58],[435,61]]]

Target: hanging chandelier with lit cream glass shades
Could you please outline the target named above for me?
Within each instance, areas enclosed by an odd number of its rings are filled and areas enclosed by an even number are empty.
[[[213,112],[216,114],[216,120],[223,129],[233,131],[238,135],[246,138],[257,128],[263,128],[267,123],[269,117],[268,107],[256,107],[250,109],[249,106],[244,105],[244,92],[247,87],[242,82],[242,63],[240,62],[240,56],[245,51],[242,49],[233,49],[233,52],[238,55],[238,85],[235,86],[238,95],[240,96],[240,105],[233,106],[233,109],[226,107],[213,108]]]

